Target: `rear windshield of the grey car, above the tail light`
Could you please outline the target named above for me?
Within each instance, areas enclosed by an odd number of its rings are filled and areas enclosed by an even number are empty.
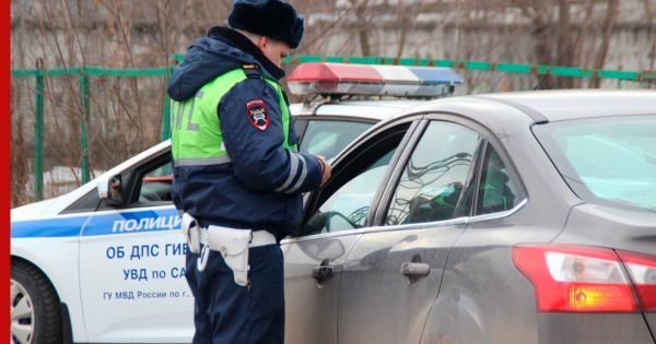
[[[656,116],[561,121],[534,132],[582,199],[656,210]]]

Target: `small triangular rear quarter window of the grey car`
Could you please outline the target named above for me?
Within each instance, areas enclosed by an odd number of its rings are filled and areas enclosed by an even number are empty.
[[[478,190],[477,215],[507,211],[523,200],[519,187],[491,145],[483,159]]]

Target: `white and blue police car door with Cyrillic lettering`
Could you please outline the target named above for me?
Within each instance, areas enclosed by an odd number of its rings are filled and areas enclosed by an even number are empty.
[[[91,342],[191,339],[194,306],[184,277],[186,242],[171,202],[169,156],[166,150],[122,171],[127,205],[102,203],[82,228],[80,289]]]

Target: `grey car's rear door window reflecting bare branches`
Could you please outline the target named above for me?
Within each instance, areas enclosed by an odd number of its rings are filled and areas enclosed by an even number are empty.
[[[386,225],[454,218],[480,137],[464,126],[433,121],[403,168]]]

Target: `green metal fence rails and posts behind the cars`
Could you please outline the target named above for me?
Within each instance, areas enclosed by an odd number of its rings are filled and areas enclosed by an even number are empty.
[[[173,58],[180,61],[184,56],[175,55]],[[631,82],[655,82],[656,71],[624,71],[624,70],[590,70],[577,67],[558,67],[544,64],[522,64],[522,63],[503,63],[503,62],[487,62],[487,61],[470,61],[470,60],[448,60],[448,59],[418,59],[418,58],[389,58],[389,57],[341,57],[341,56],[308,56],[296,55],[289,56],[283,60],[283,63],[304,63],[304,62],[343,62],[343,63],[364,63],[364,64],[399,64],[399,66],[425,66],[425,67],[449,67],[458,70],[475,70],[475,71],[496,71],[514,74],[532,74],[532,75],[552,75],[565,78],[599,78],[613,79]],[[163,76],[168,80],[173,67],[162,68],[143,68],[143,69],[114,69],[103,67],[75,67],[68,69],[50,69],[45,70],[43,61],[37,61],[37,68],[34,70],[12,70],[11,75],[15,78],[34,78],[35,79],[35,147],[34,147],[34,179],[35,179],[35,200],[43,199],[43,133],[44,133],[44,81],[49,76],[72,75],[80,79],[81,104],[84,112],[80,121],[80,142],[81,142],[81,181],[85,183],[90,180],[89,170],[89,154],[87,154],[87,138],[86,126],[91,118],[90,110],[90,76],[122,76],[122,78],[145,78],[145,76]],[[163,121],[161,128],[162,140],[167,140],[171,137],[171,128],[168,126],[169,118],[169,99],[164,96],[163,105]]]

